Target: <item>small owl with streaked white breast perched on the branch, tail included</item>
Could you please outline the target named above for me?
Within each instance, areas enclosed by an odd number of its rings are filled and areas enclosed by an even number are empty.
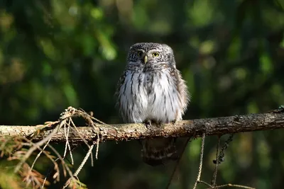
[[[182,120],[190,101],[172,48],[152,42],[130,47],[116,96],[124,122],[145,123],[147,127],[153,127],[153,122],[159,125]],[[144,139],[141,144],[142,159],[151,166],[178,158],[173,137]]]

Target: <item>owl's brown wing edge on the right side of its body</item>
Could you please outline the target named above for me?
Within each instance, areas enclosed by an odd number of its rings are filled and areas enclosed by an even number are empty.
[[[187,109],[187,105],[190,102],[190,93],[187,90],[187,85],[185,84],[185,80],[182,79],[182,75],[178,69],[174,69],[174,76],[176,80],[177,90],[180,93],[180,103],[182,108],[182,114],[185,113]]]

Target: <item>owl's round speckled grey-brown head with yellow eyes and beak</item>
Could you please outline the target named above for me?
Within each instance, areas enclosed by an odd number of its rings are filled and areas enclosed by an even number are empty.
[[[135,64],[168,63],[175,65],[172,48],[153,42],[140,42],[132,45],[127,60],[132,64],[135,62]]]

